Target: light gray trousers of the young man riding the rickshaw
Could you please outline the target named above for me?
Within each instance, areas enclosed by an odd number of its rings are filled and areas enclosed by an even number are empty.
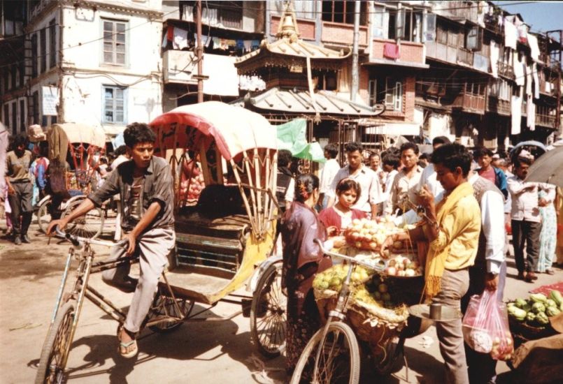
[[[110,286],[124,292],[133,292],[131,307],[127,312],[124,327],[129,332],[138,332],[147,316],[158,287],[158,279],[168,264],[168,254],[174,248],[176,233],[173,229],[154,228],[137,238],[136,253],[141,274],[138,281],[129,277],[129,264],[108,269],[101,275]],[[111,249],[109,260],[126,257],[127,244],[117,244]]]

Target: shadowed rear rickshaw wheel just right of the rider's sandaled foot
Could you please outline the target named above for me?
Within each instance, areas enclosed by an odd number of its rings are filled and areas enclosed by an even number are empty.
[[[178,304],[178,305],[176,305]],[[152,332],[165,333],[182,325],[183,320],[190,315],[194,308],[192,300],[185,300],[176,297],[176,303],[164,288],[158,288],[155,300],[152,301],[152,307],[148,311],[146,322],[150,323],[155,320],[162,320],[155,325],[149,325],[148,329]]]

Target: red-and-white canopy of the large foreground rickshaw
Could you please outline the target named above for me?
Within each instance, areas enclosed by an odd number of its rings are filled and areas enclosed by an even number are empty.
[[[178,124],[196,128],[199,133],[214,140],[221,156],[227,161],[248,149],[276,150],[277,147],[276,129],[265,117],[220,101],[183,105],[150,122],[152,127],[161,127],[164,140],[170,137],[167,133],[173,134],[175,131],[177,147],[190,148],[190,133],[177,130]]]

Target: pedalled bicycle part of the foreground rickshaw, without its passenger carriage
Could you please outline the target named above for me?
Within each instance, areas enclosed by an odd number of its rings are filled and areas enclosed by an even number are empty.
[[[115,304],[101,295],[89,284],[90,274],[102,272],[106,269],[119,267],[127,263],[138,263],[136,256],[120,258],[119,260],[101,261],[94,263],[94,250],[92,245],[115,246],[113,242],[96,239],[87,239],[70,235],[69,233],[56,230],[57,236],[64,237],[71,242],[69,254],[62,275],[62,281],[55,302],[55,309],[52,313],[50,328],[45,338],[45,343],[41,350],[41,357],[36,374],[36,384],[40,383],[63,383],[65,381],[66,361],[69,357],[74,333],[80,318],[80,311],[87,298],[106,312],[111,318],[123,325],[127,316]],[[117,243],[120,246],[127,244],[127,241]],[[80,261],[76,272],[76,278],[72,283],[71,290],[64,293],[66,280],[71,269],[71,260],[75,258]],[[152,307],[145,319],[145,327],[149,327],[155,332],[172,330],[181,324],[193,308],[194,303],[176,298],[173,294],[166,275],[162,273],[166,289],[159,286],[159,291],[155,295]]]

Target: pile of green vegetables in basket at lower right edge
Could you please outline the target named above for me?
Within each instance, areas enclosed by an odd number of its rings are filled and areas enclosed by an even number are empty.
[[[549,297],[542,293],[529,295],[529,299],[516,299],[506,304],[508,316],[525,322],[532,327],[546,327],[551,316],[563,311],[563,297],[558,290],[552,290]]]

